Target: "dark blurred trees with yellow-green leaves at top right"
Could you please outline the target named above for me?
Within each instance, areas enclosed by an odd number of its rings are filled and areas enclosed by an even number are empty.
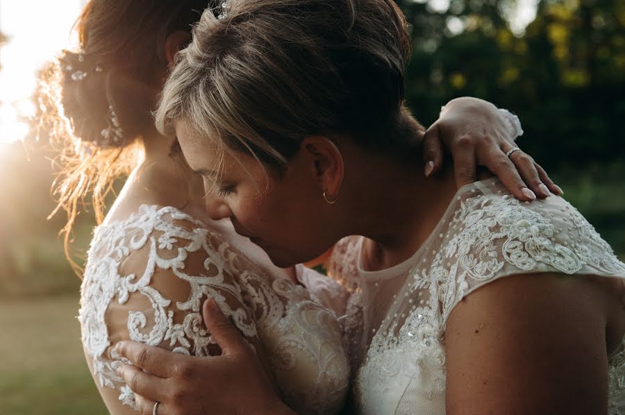
[[[478,96],[517,112],[520,144],[551,171],[622,160],[625,3],[544,0],[522,37],[503,18],[508,2],[452,0],[440,13],[400,4],[413,26],[406,92],[417,117],[431,123],[449,99]],[[453,24],[464,30],[453,35]]]

